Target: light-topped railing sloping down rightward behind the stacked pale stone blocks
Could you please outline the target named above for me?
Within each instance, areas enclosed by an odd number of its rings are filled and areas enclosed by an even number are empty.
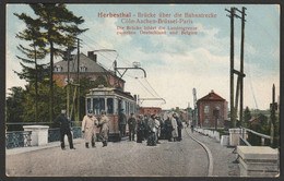
[[[264,146],[264,145],[270,145],[270,135],[265,135],[262,133],[258,133],[253,130],[250,129],[245,129],[242,128],[242,133],[248,132],[248,138],[246,135],[242,134],[242,136],[240,137],[240,144],[241,145],[247,145],[247,146]],[[267,142],[265,142],[267,140]],[[251,143],[249,143],[248,141],[250,141]]]

